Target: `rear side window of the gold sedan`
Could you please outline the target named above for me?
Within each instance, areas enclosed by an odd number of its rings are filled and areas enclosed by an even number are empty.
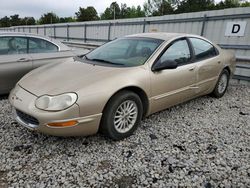
[[[190,41],[193,45],[194,55],[197,60],[207,59],[217,55],[215,47],[209,42],[198,38],[190,38]]]

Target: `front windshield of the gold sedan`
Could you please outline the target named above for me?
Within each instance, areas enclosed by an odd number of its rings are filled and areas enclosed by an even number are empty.
[[[139,66],[147,61],[162,42],[163,40],[152,38],[121,38],[96,48],[85,57],[104,64]]]

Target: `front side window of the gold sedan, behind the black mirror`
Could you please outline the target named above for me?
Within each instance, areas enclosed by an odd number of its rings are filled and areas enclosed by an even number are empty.
[[[191,59],[187,40],[178,40],[174,42],[161,56],[159,62],[166,60],[176,61],[178,66],[188,64]]]

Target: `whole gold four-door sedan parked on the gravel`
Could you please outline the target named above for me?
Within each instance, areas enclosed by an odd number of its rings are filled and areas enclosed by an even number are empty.
[[[23,126],[56,136],[130,136],[141,119],[201,95],[219,98],[234,54],[189,34],[116,39],[72,60],[25,75],[9,100]]]

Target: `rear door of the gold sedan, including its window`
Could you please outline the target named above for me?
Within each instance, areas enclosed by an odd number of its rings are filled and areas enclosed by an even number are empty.
[[[206,93],[217,81],[223,66],[220,61],[218,50],[208,41],[200,38],[189,38],[195,56],[197,66],[197,89],[196,94]]]

